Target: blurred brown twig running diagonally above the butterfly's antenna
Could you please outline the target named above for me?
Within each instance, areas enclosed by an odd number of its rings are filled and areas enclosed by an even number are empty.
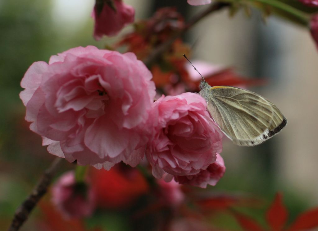
[[[166,40],[166,42],[162,43],[160,46],[158,46],[155,50],[153,50],[152,53],[148,55],[146,59],[143,60],[145,65],[149,67],[149,65],[154,62],[162,53],[164,53],[166,50],[169,49],[169,47],[172,45],[172,43],[179,37],[181,37],[185,32],[187,32],[194,24],[196,24],[198,21],[200,21],[205,16],[209,15],[211,12],[221,10],[222,8],[229,6],[230,3],[225,2],[216,2],[214,4],[211,4],[210,7],[208,7],[203,12],[200,12],[199,14],[192,17],[189,22],[179,31],[177,31],[174,35],[170,37],[170,39]]]

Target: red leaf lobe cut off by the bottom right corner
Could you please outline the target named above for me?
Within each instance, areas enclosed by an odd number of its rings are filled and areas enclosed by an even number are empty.
[[[301,231],[318,227],[318,208],[302,213],[288,231]]]

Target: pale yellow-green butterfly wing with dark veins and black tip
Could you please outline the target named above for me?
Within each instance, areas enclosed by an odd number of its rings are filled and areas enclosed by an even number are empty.
[[[255,146],[277,134],[287,123],[280,110],[259,94],[241,88],[207,89],[207,108],[221,130],[241,146]]]

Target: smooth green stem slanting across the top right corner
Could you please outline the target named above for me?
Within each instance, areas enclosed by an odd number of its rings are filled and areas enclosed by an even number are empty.
[[[249,2],[259,2],[264,3],[269,6],[273,6],[276,9],[283,10],[295,17],[297,17],[304,25],[308,25],[309,17],[305,15],[302,11],[277,0],[248,0]]]

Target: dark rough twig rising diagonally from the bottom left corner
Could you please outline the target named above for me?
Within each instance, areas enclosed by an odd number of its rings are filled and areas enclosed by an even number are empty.
[[[52,178],[55,175],[57,168],[62,162],[63,158],[57,157],[51,164],[51,166],[45,170],[44,174],[38,181],[38,184],[34,187],[31,194],[20,205],[14,214],[14,218],[8,231],[17,231],[23,225],[24,221],[28,219],[32,209],[36,206],[38,201],[47,191],[48,186],[51,184]]]

